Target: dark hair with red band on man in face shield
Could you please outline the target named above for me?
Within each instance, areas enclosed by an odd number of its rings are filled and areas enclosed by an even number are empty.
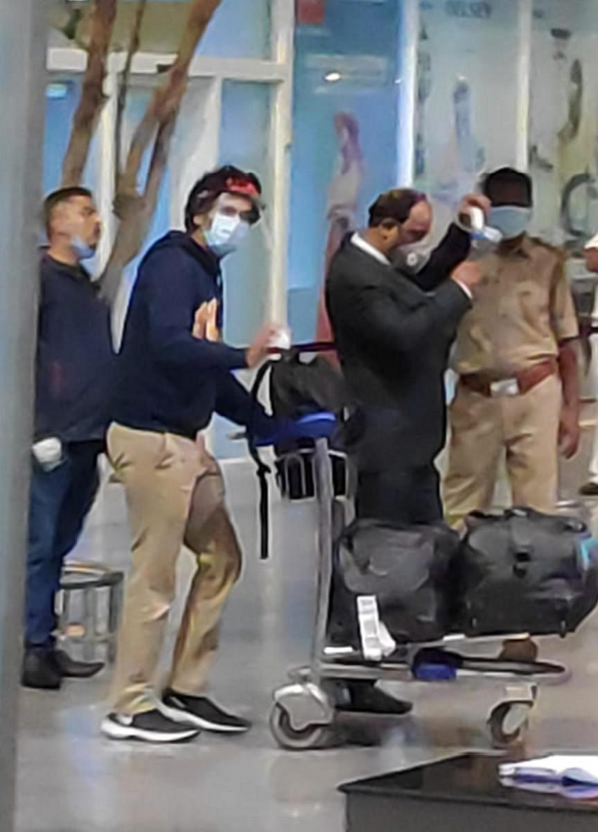
[[[255,173],[241,171],[240,168],[225,165],[211,171],[195,182],[185,207],[185,226],[188,231],[195,229],[194,217],[205,214],[214,205],[220,194],[245,196],[252,204],[250,222],[259,220],[264,210],[262,186]]]

